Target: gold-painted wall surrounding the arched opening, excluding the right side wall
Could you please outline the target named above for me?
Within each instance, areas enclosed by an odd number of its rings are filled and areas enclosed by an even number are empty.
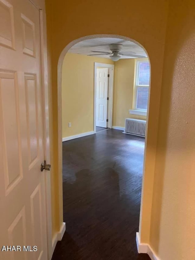
[[[104,7],[102,9],[102,6]],[[141,6],[141,8],[140,8]],[[101,12],[99,10],[101,9]],[[120,10],[120,12],[119,12]],[[52,80],[52,216],[53,234],[63,222],[62,205],[62,136],[58,122],[60,86],[58,88],[58,61],[63,49],[72,41],[87,35],[101,37],[128,37],[146,49],[151,62],[151,94],[148,114],[144,177],[140,212],[140,238],[148,243],[150,237],[151,205],[156,157],[158,116],[165,34],[168,14],[166,0],[63,1],[46,0],[48,41],[51,50]],[[60,75],[60,72],[59,72]],[[60,77],[60,76],[59,76]],[[65,202],[66,204],[66,202]]]

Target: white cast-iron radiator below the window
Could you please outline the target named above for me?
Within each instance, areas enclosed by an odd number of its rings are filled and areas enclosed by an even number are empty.
[[[125,134],[134,134],[134,135],[145,137],[146,120],[126,118],[124,133]]]

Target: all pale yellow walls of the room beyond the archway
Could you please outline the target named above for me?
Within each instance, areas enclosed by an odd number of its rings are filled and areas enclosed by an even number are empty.
[[[94,62],[114,64],[113,126],[124,127],[133,109],[135,59],[111,59],[67,53],[62,66],[62,137],[94,130]],[[68,123],[71,122],[71,127]]]

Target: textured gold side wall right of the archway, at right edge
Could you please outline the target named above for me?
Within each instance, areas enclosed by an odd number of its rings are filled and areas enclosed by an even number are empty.
[[[150,244],[161,260],[195,259],[195,2],[170,1]]]

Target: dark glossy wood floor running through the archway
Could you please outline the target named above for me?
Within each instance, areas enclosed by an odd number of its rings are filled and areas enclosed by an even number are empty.
[[[53,260],[150,259],[137,254],[144,138],[109,129],[63,142],[66,232]]]

